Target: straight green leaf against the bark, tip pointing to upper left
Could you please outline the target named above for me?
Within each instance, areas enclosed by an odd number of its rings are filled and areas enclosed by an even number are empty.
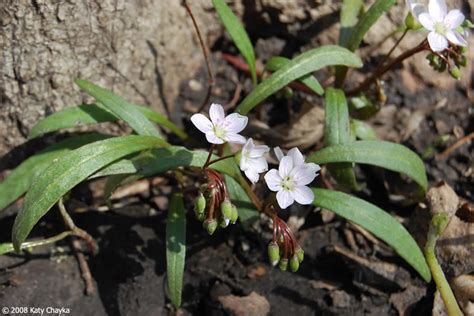
[[[87,80],[77,79],[76,84],[100,102],[107,110],[129,124],[137,134],[161,138],[160,132],[145,115],[136,108],[131,107],[130,103],[118,95]]]

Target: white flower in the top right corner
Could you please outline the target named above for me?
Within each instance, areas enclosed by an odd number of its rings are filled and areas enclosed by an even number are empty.
[[[430,0],[428,11],[421,9],[421,5],[409,1],[410,9],[421,25],[430,33],[428,43],[434,52],[441,52],[448,48],[449,42],[458,46],[467,46],[466,40],[457,28],[464,22],[464,15],[459,10],[448,8],[444,0]]]

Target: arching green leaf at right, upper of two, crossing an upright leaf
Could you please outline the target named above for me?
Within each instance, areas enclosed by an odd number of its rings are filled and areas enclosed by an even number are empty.
[[[354,162],[379,166],[406,174],[424,191],[428,188],[425,166],[420,157],[407,147],[391,142],[361,140],[330,146],[315,152],[308,160],[318,164]]]

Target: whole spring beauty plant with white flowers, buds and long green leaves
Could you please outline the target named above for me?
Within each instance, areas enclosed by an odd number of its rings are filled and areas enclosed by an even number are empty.
[[[197,113],[187,118],[195,132],[201,132],[195,133],[196,140],[207,141],[206,150],[190,148],[190,136],[165,115],[132,104],[90,81],[76,80],[95,102],[44,118],[32,128],[30,139],[78,125],[116,121],[128,124],[133,133],[68,134],[16,167],[0,183],[0,210],[22,196],[24,199],[12,227],[12,240],[0,245],[0,253],[28,251],[68,236],[81,238],[95,253],[95,241],[74,224],[67,211],[69,192],[82,182],[101,177],[107,179],[104,196],[108,198],[125,184],[162,175],[176,184],[167,210],[166,248],[168,292],[177,308],[181,304],[188,212],[210,235],[239,222],[251,231],[248,223],[264,214],[272,221],[273,237],[267,240],[266,249],[269,262],[295,272],[304,264],[304,250],[282,214],[295,205],[324,208],[384,241],[429,282],[430,267],[404,226],[385,210],[354,195],[363,187],[354,168],[366,164],[401,173],[418,188],[416,198],[423,198],[428,181],[422,159],[403,145],[378,139],[364,120],[373,115],[370,107],[383,95],[375,83],[415,54],[424,52],[435,71],[448,71],[459,78],[460,68],[467,64],[467,36],[472,24],[456,8],[448,10],[442,0],[407,1],[407,16],[398,28],[402,34],[393,49],[361,82],[349,81],[349,68],[363,65],[357,51],[365,34],[394,4],[395,0],[377,0],[362,10],[362,1],[345,0],[337,45],[315,47],[292,58],[274,56],[262,70],[256,66],[253,45],[239,18],[224,0],[213,0],[217,15],[244,58],[227,56],[227,60],[236,67],[245,65],[241,69],[248,72],[253,87],[227,114],[221,105],[206,99]],[[411,32],[422,32],[426,37],[392,57],[394,48]],[[208,61],[207,65],[209,69]],[[325,80],[332,82],[329,86],[321,85],[313,75],[323,68],[331,70],[328,73],[334,80]],[[212,76],[211,71],[209,74]],[[212,80],[209,83],[211,91]],[[304,87],[324,102],[324,142],[316,144],[318,150],[270,148],[246,129],[254,118],[252,111],[262,101],[289,87]],[[323,176],[321,187],[316,180]],[[56,209],[64,218],[64,232],[28,238],[45,214]]]

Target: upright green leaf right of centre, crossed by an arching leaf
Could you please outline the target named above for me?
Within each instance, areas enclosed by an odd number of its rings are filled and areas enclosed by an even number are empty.
[[[351,142],[349,129],[349,107],[344,91],[328,88],[325,97],[324,142],[326,146],[342,145]],[[356,190],[357,185],[352,163],[341,162],[328,166],[331,175],[343,187]]]

